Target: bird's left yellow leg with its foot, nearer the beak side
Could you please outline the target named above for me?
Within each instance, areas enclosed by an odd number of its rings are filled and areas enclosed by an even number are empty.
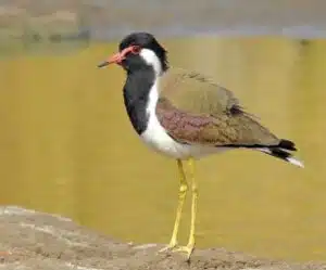
[[[177,165],[178,165],[179,180],[180,180],[177,213],[176,213],[175,223],[174,223],[170,244],[166,247],[162,248],[160,252],[173,249],[174,247],[177,246],[177,235],[178,235],[179,224],[180,224],[180,220],[181,220],[184,203],[185,203],[185,198],[186,198],[187,190],[188,190],[188,183],[187,183],[186,175],[185,175],[185,171],[183,168],[183,162],[180,159],[177,159]]]

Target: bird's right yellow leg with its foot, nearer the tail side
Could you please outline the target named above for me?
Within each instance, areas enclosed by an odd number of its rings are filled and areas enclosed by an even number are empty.
[[[190,256],[193,252],[196,237],[195,237],[195,228],[196,228],[196,215],[197,215],[197,201],[198,201],[198,187],[195,179],[195,160],[193,158],[189,158],[188,160],[190,168],[190,177],[191,177],[191,191],[192,191],[192,200],[191,200],[191,224],[190,224],[190,233],[187,246],[180,246],[176,249],[176,252],[185,252],[187,254],[187,259],[190,259]]]

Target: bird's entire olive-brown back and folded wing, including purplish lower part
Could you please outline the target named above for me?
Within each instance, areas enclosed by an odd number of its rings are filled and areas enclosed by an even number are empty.
[[[279,143],[241,110],[230,91],[200,74],[175,69],[163,77],[160,87],[158,119],[178,142],[214,146]]]

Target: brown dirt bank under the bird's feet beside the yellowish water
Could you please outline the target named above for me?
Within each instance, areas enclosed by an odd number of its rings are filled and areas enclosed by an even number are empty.
[[[16,206],[0,207],[0,269],[8,270],[303,270],[326,263],[272,261],[223,248],[197,249],[190,262],[158,254],[162,245],[134,245],[83,228],[59,216]]]

